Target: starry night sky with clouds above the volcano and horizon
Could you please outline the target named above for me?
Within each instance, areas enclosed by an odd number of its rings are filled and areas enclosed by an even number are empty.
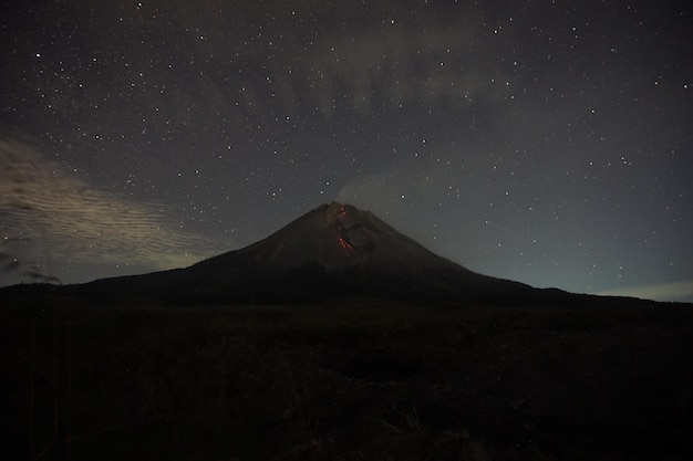
[[[484,274],[693,300],[690,2],[0,8],[0,284],[182,268],[339,200]]]

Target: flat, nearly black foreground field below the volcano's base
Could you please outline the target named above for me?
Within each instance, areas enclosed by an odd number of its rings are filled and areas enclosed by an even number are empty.
[[[8,460],[691,460],[693,308],[623,303],[3,300],[0,450]]]

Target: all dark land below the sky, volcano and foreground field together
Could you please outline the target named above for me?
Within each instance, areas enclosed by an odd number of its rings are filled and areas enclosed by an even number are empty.
[[[337,202],[190,268],[2,289],[0,338],[3,459],[693,459],[693,305],[478,274]]]

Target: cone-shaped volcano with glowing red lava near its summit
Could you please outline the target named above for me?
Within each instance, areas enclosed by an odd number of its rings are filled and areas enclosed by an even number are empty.
[[[297,303],[343,297],[513,300],[540,292],[469,271],[397,232],[370,211],[322,205],[268,238],[186,269],[60,287],[103,301]]]

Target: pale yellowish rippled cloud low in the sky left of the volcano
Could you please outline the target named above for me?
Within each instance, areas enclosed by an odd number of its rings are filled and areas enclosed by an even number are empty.
[[[96,189],[31,144],[10,138],[0,138],[0,237],[6,272],[20,266],[37,272],[25,260],[48,253],[54,266],[152,270],[189,265],[214,253],[210,242],[182,230],[161,203]],[[14,252],[22,258],[15,261]]]

